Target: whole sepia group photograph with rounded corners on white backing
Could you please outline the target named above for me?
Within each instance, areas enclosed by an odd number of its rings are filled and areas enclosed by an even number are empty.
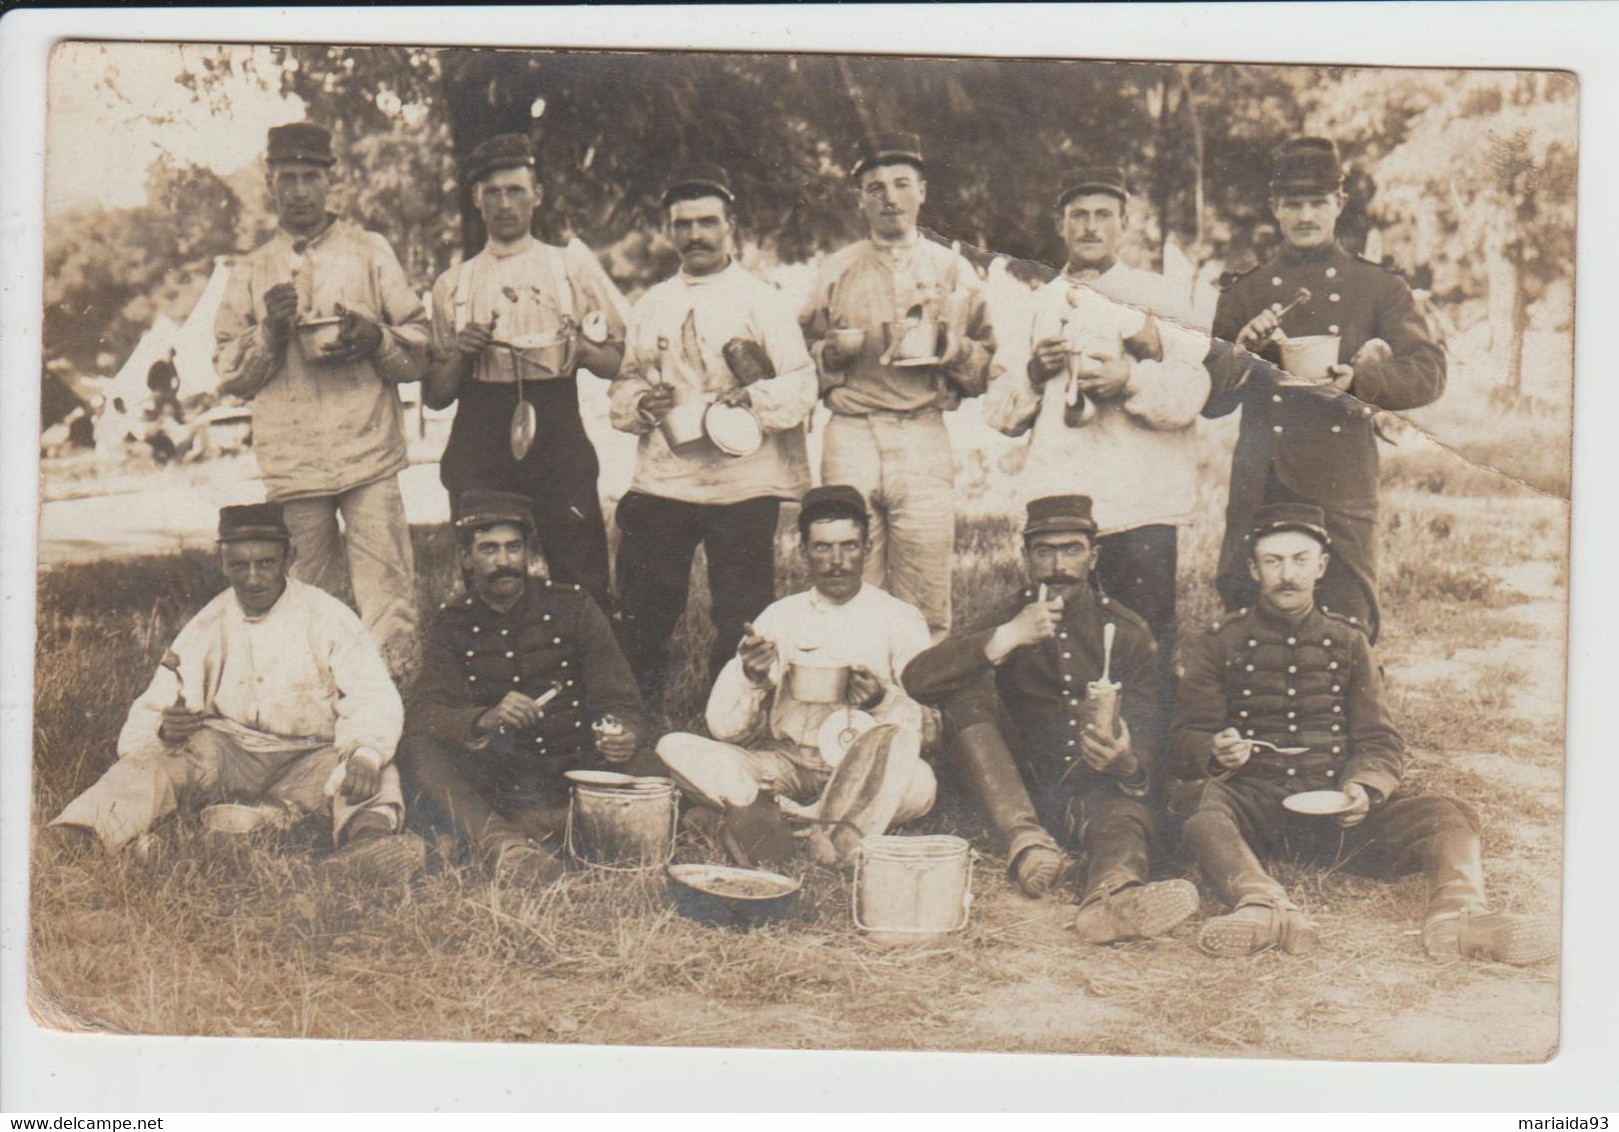
[[[1557,1054],[1577,74],[47,74],[40,1027]]]

